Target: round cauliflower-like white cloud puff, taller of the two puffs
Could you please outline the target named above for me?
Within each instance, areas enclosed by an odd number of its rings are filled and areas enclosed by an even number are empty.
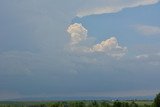
[[[87,38],[87,29],[85,29],[82,24],[79,23],[70,25],[67,29],[67,32],[70,34],[72,45],[78,44]]]

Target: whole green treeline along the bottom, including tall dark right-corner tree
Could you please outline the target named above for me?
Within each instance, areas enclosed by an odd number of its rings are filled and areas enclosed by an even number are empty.
[[[66,102],[39,102],[39,103],[6,103],[0,107],[160,107],[160,94],[153,103],[137,103],[135,101],[66,101]]]

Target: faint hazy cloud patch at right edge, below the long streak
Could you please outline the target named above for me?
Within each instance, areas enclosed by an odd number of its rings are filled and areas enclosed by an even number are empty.
[[[160,27],[158,27],[158,26],[137,25],[136,30],[146,36],[160,34]]]

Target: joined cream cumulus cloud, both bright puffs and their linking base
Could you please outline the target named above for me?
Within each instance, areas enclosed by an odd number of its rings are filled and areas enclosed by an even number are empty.
[[[112,57],[122,57],[127,52],[126,47],[122,47],[118,44],[116,37],[111,37],[90,47],[84,45],[81,47],[79,44],[81,41],[89,40],[89,36],[87,35],[88,31],[82,24],[72,24],[68,27],[67,31],[70,34],[70,46],[72,50],[81,50],[87,53],[104,53]],[[77,44],[79,45],[77,46]]]

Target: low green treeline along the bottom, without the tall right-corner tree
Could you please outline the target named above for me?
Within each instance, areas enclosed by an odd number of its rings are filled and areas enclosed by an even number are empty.
[[[1,104],[0,107],[152,107],[144,104],[138,105],[136,102],[121,101],[73,101],[73,102],[54,102],[44,104]]]

